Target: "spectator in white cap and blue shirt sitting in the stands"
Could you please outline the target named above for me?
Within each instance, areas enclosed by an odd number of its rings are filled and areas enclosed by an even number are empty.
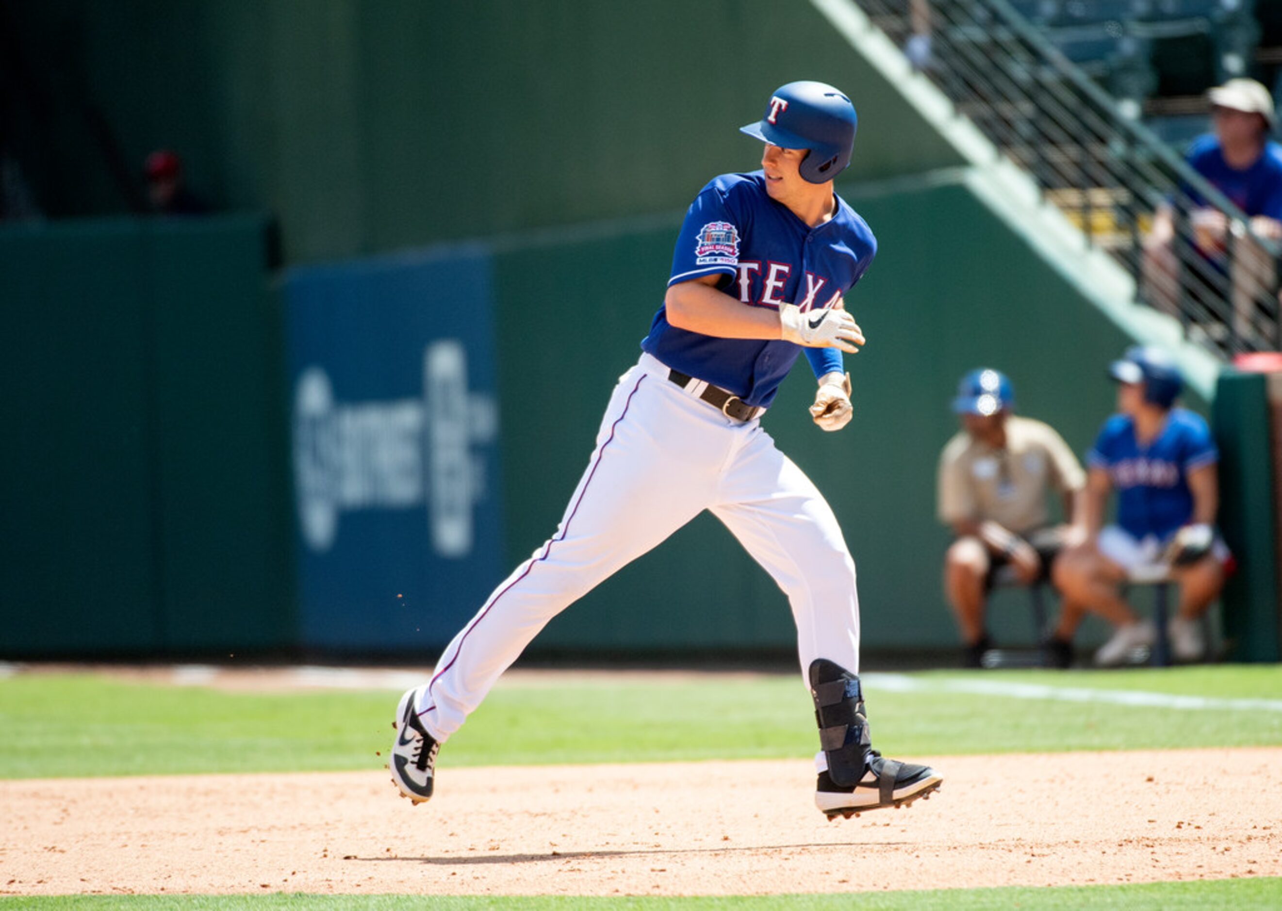
[[[1194,141],[1186,155],[1188,164],[1206,181],[1250,217],[1251,231],[1265,240],[1282,240],[1282,146],[1269,138],[1277,127],[1273,96],[1254,79],[1229,79],[1208,94],[1211,103],[1214,132]],[[1219,209],[1206,204],[1191,188],[1194,209],[1188,223],[1194,245],[1206,261],[1200,281],[1194,282],[1195,296],[1219,297],[1214,284],[1229,274],[1233,331],[1250,338],[1256,319],[1258,301],[1273,293],[1274,264],[1272,258],[1250,237],[1233,243],[1229,269],[1227,246],[1229,224]],[[1196,270],[1190,278],[1197,279]],[[1178,315],[1179,288],[1176,250],[1176,218],[1172,206],[1158,209],[1153,231],[1145,241],[1144,278],[1149,302]],[[1200,291],[1205,286],[1205,291]]]

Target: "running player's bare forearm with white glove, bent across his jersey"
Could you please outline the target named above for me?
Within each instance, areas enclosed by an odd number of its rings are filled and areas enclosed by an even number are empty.
[[[744,306],[736,297],[717,290],[722,275],[709,274],[669,284],[663,299],[668,323],[717,338],[782,338],[847,354],[858,352],[856,346],[864,343],[864,333],[844,308],[803,313],[792,305],[778,311]]]

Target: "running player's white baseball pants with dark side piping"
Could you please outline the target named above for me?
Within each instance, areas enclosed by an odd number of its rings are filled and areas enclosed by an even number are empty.
[[[444,742],[549,620],[710,510],[788,597],[801,673],[815,659],[859,673],[855,564],[832,509],[760,422],[682,390],[645,354],[619,378],[556,534],[454,637],[418,711]],[[806,684],[809,687],[809,684]]]

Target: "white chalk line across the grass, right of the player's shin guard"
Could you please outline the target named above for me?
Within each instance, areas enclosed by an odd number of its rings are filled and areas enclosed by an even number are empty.
[[[1013,680],[958,680],[909,677],[908,674],[860,674],[860,679],[873,689],[901,693],[976,693],[979,696],[1005,696],[1014,700],[1058,700],[1060,702],[1092,702],[1132,709],[1208,709],[1235,711],[1282,712],[1282,700],[1214,698],[1208,696],[1178,696],[1153,693],[1142,689],[1088,689],[1086,687],[1053,687],[1045,683],[1015,683]]]

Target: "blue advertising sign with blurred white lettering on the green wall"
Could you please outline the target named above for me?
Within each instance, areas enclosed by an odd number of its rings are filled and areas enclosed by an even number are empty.
[[[481,250],[286,275],[305,646],[438,651],[500,580],[492,284]]]

